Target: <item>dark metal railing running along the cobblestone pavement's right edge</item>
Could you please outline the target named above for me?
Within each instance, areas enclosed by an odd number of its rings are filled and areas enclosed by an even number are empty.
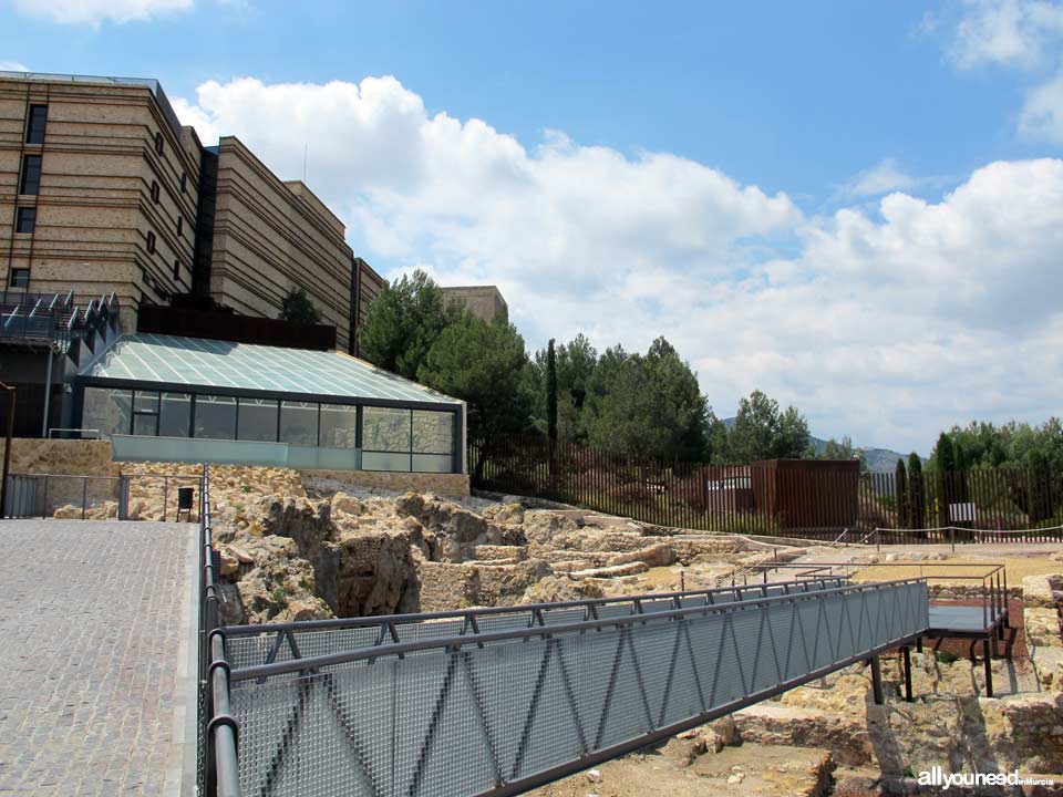
[[[210,466],[203,467],[199,490],[199,733],[205,746],[204,784],[208,797],[240,797],[237,724],[229,713],[229,664],[218,633],[218,587],[210,534]]]

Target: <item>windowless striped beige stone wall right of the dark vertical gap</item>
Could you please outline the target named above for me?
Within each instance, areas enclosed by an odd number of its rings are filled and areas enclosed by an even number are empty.
[[[306,289],[347,351],[351,259],[343,224],[302,183],[282,183],[244,144],[218,149],[210,293],[247,315],[277,318],[285,294]]]

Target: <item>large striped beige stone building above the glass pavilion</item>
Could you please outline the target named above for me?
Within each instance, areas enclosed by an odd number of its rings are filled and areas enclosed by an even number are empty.
[[[239,139],[204,147],[154,80],[0,72],[0,279],[18,294],[112,293],[122,328],[174,297],[277,318],[302,288],[357,352],[384,280],[299,180]]]

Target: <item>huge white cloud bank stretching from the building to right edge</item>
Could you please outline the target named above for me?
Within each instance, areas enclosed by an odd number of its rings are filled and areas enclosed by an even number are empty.
[[[281,177],[302,174],[309,143],[309,183],[355,251],[392,275],[498,284],[532,345],[667,335],[721,413],[760,387],[821,435],[926,453],[956,422],[1059,412],[1063,161],[990,164],[937,203],[884,162],[854,182],[892,192],[874,215],[808,219],[668,153],[558,132],[529,148],[430,114],[392,77],[209,82],[175,106]]]

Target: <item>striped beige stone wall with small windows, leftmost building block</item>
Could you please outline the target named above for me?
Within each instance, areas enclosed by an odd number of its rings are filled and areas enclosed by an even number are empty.
[[[35,104],[48,106],[43,145],[23,141]],[[156,133],[163,135],[162,154]],[[17,194],[25,154],[42,158],[37,196]],[[4,284],[12,268],[29,268],[32,292],[73,290],[84,303],[114,291],[123,324],[132,328],[142,301],[162,303],[192,288],[198,187],[194,133],[175,135],[147,86],[0,80]],[[16,206],[37,208],[33,234],[14,234]],[[155,235],[154,252],[148,232]]]

